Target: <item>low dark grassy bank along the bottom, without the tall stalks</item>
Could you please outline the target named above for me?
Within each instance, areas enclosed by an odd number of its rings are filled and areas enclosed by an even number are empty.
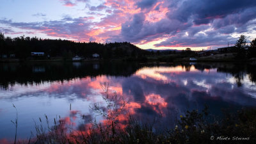
[[[105,124],[88,124],[73,129],[63,120],[54,126],[36,125],[36,136],[18,143],[255,143],[256,110],[241,109],[236,114],[212,120],[207,111],[188,111],[180,115],[173,129],[154,132],[150,124],[141,124],[129,116],[127,122],[109,121]],[[47,116],[46,116],[47,118]],[[41,119],[40,119],[41,120]],[[47,120],[47,123],[49,121]],[[122,127],[122,124],[125,127]]]

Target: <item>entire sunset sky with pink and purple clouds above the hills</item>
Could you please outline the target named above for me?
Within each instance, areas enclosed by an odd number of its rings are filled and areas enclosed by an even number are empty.
[[[2,0],[5,36],[193,50],[256,38],[253,0]]]

